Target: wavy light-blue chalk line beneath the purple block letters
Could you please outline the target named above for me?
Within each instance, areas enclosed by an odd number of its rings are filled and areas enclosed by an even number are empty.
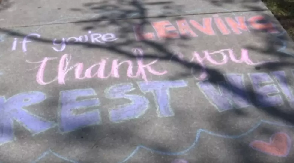
[[[252,128],[250,128],[248,131],[240,134],[240,135],[222,135],[222,134],[217,134],[217,133],[214,133],[214,132],[211,132],[211,131],[208,131],[208,130],[204,130],[204,129],[199,129],[197,130],[196,132],[196,137],[195,137],[195,140],[194,142],[187,148],[187,149],[184,149],[180,152],[164,152],[164,151],[159,151],[159,150],[155,150],[155,149],[152,149],[152,148],[148,148],[146,146],[137,146],[136,149],[131,152],[130,155],[128,155],[127,158],[125,158],[123,161],[119,162],[119,163],[124,163],[126,161],[128,161],[130,158],[132,158],[138,151],[139,149],[146,149],[147,151],[150,151],[150,152],[153,152],[153,153],[157,153],[157,154],[161,154],[161,155],[184,155],[185,153],[189,152],[191,149],[193,149],[196,144],[198,143],[198,140],[200,138],[200,134],[202,132],[205,132],[209,135],[212,135],[212,136],[216,136],[216,137],[222,137],[222,138],[226,138],[226,139],[238,139],[240,137],[243,137],[243,136],[246,136],[248,134],[250,134],[251,132],[253,132],[256,128],[258,128],[262,123],[266,123],[266,124],[269,124],[269,125],[276,125],[276,126],[284,126],[284,127],[291,127],[293,128],[294,125],[285,125],[283,123],[277,123],[277,122],[271,122],[271,121],[266,121],[266,120],[261,120],[259,121],[258,123],[256,123],[256,125],[254,125]],[[48,155],[49,153],[52,153],[53,155],[55,155],[56,157],[58,158],[61,158],[65,161],[69,161],[71,163],[78,163],[76,161],[73,161],[73,160],[70,160],[68,158],[65,158],[61,155],[58,155],[57,153],[55,152],[52,152],[51,149],[47,150],[46,152],[44,152],[40,157],[38,157],[35,161],[32,161],[31,163],[36,163],[38,162],[39,160],[41,160],[42,158],[44,158],[46,155]]]

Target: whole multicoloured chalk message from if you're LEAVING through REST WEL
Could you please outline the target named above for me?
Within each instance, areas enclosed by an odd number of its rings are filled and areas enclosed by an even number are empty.
[[[150,25],[153,30],[150,29],[149,31],[143,31],[141,25],[134,24],[134,40],[143,42],[166,38],[241,35],[242,33],[250,32],[250,30],[265,31],[269,34],[278,33],[273,23],[263,22],[262,20],[264,20],[264,17],[260,15],[249,18],[214,15],[201,20],[180,19],[174,22],[162,20],[151,22]],[[26,53],[30,48],[28,45],[34,44],[32,37],[42,38],[39,33],[31,33],[21,38],[22,40],[13,38],[11,51],[19,50]],[[197,50],[185,53],[179,51],[170,56],[170,60],[177,57],[179,62],[185,62],[188,58],[188,63],[199,65],[200,72],[198,74],[193,73],[195,71],[193,67],[189,67],[191,75],[194,76],[194,82],[184,79],[152,80],[152,76],[165,77],[171,72],[167,67],[159,69],[156,66],[159,64],[158,58],[144,60],[146,54],[142,48],[129,48],[134,55],[133,60],[109,59],[105,56],[99,56],[95,57],[95,59],[87,60],[87,64],[85,61],[73,61],[77,56],[63,52],[71,43],[106,45],[110,42],[116,43],[120,39],[114,33],[93,31],[87,31],[85,34],[76,36],[61,36],[60,38],[53,38],[52,44],[51,41],[49,42],[49,48],[53,53],[62,52],[58,57],[42,56],[34,61],[26,58],[24,60],[26,66],[35,67],[28,71],[34,77],[33,82],[44,88],[54,84],[64,87],[67,86],[69,83],[67,81],[69,80],[79,82],[87,79],[105,81],[110,78],[119,79],[122,76],[127,79],[137,79],[138,81],[135,83],[125,81],[109,85],[107,88],[103,88],[103,94],[97,94],[97,90],[91,87],[87,89],[58,90],[58,106],[60,106],[60,110],[53,108],[56,109],[58,117],[55,121],[46,120],[28,111],[29,107],[48,100],[48,95],[44,91],[22,92],[10,95],[11,97],[2,95],[0,97],[0,128],[2,131],[0,145],[15,140],[13,134],[14,123],[19,123],[19,125],[22,125],[31,134],[35,135],[54,127],[58,128],[61,133],[67,133],[87,126],[103,125],[105,121],[102,117],[109,118],[111,125],[113,123],[123,123],[136,120],[152,109],[156,112],[158,118],[173,117],[176,112],[171,105],[171,101],[177,99],[171,99],[173,97],[170,95],[171,90],[181,90],[187,87],[195,89],[199,94],[206,97],[206,102],[214,106],[217,112],[247,107],[275,107],[285,103],[294,107],[294,95],[292,94],[292,88],[286,83],[285,71],[244,74],[235,73],[232,70],[233,73],[224,74],[226,81],[215,84],[207,80],[209,79],[209,73],[206,68],[209,66],[216,68],[228,64],[256,66],[269,62],[269,60],[254,60],[250,55],[250,51],[246,48],[230,47],[218,48],[217,50],[199,50],[197,48]],[[126,71],[122,72],[122,69],[126,69]],[[294,70],[291,72],[294,75]],[[254,104],[245,87],[247,83],[245,83],[244,78],[249,78],[253,93],[256,95],[257,102]],[[134,93],[134,91],[141,94]],[[154,100],[151,101],[146,94],[152,94]],[[83,98],[83,100],[80,100],[80,98]],[[100,110],[101,105],[104,104],[104,101],[101,100],[102,98],[113,101],[127,99],[129,102],[108,108],[107,114],[105,114]],[[156,107],[151,107],[151,103],[155,103]],[[92,108],[91,111],[88,111],[88,108]]]

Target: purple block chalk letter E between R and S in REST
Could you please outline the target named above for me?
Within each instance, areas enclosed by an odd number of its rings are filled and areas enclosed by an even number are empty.
[[[82,114],[74,114],[74,110],[88,109],[100,105],[98,98],[79,100],[78,97],[95,96],[97,95],[93,89],[78,89],[60,92],[61,103],[61,120],[60,130],[63,132],[73,131],[78,128],[89,125],[97,125],[101,122],[99,110],[84,112]]]

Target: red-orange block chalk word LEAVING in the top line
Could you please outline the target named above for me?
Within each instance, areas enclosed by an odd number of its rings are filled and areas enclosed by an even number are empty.
[[[180,36],[198,37],[199,33],[213,36],[217,35],[217,32],[220,32],[222,35],[229,35],[231,33],[240,35],[243,32],[249,32],[250,27],[254,30],[262,30],[269,33],[278,32],[273,23],[266,21],[266,18],[261,15],[250,17],[247,20],[243,16],[222,18],[214,15],[213,17],[203,18],[202,23],[196,20],[181,19],[176,21],[177,28],[168,20],[151,22],[151,25],[155,32],[144,33],[140,25],[134,25],[135,38],[137,40],[155,40],[179,38]],[[214,28],[214,26],[217,28]],[[229,30],[229,27],[232,32]]]

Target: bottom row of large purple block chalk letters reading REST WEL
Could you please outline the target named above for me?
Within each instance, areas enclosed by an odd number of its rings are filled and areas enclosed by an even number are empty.
[[[280,106],[284,103],[283,96],[292,106],[293,94],[286,84],[285,74],[284,71],[248,74],[260,107]],[[292,75],[294,76],[294,70],[292,70]],[[234,108],[245,108],[252,106],[252,103],[245,88],[244,76],[244,74],[225,74],[225,81],[218,82],[215,85],[208,81],[199,81],[197,86],[208,101],[220,112]],[[274,84],[273,78],[278,84]],[[145,114],[146,110],[149,109],[149,99],[142,95],[129,93],[135,89],[140,89],[144,94],[148,92],[153,94],[154,101],[158,105],[158,117],[172,117],[174,116],[174,110],[170,106],[170,101],[172,100],[170,99],[170,90],[175,88],[185,89],[187,86],[187,81],[184,80],[143,81],[138,82],[137,86],[132,83],[112,85],[105,89],[105,97],[113,100],[124,98],[130,100],[131,103],[109,108],[109,119],[112,122],[121,123],[139,118]],[[278,87],[282,91],[278,91]],[[88,99],[77,100],[80,97],[88,97]],[[2,117],[0,119],[0,144],[13,140],[13,123],[11,119],[21,122],[33,134],[38,134],[51,128],[53,126],[51,122],[42,120],[42,118],[24,110],[24,107],[41,103],[45,99],[46,96],[42,92],[16,94],[7,100],[0,97],[0,104],[2,105],[0,110]],[[61,91],[59,103],[58,116],[60,117],[59,128],[61,132],[102,124],[99,111],[99,106],[102,104],[94,89]]]

